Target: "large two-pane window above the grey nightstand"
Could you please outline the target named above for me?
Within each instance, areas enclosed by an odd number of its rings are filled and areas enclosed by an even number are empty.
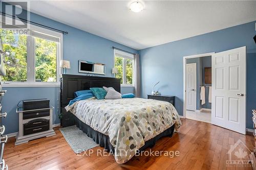
[[[1,31],[6,61],[6,86],[58,85],[62,34],[30,26],[29,34]]]

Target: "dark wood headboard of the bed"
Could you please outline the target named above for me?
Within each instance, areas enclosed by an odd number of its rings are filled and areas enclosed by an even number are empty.
[[[67,114],[65,107],[74,99],[74,92],[91,87],[113,87],[120,92],[120,79],[110,77],[62,75],[60,78],[60,112],[62,127],[74,125],[74,115]]]

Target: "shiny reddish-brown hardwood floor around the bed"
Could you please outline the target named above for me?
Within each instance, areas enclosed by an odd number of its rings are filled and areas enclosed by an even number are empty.
[[[172,138],[157,141],[154,151],[179,151],[179,156],[136,156],[125,164],[118,164],[114,157],[77,156],[58,128],[56,135],[29,141],[14,147],[10,138],[5,147],[4,159],[9,169],[251,169],[251,167],[227,167],[230,145],[239,139],[253,150],[253,136],[242,135],[208,123],[182,119],[182,126]],[[244,147],[246,150],[246,148]],[[149,151],[147,149],[146,151]],[[238,152],[240,153],[240,152]],[[243,152],[242,152],[243,153]],[[246,154],[245,154],[246,155]],[[241,157],[241,156],[240,156]],[[236,156],[231,156],[236,160]],[[248,159],[248,155],[244,159]]]

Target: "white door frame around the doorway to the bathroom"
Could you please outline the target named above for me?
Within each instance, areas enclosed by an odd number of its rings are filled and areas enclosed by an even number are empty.
[[[183,57],[183,116],[182,116],[183,118],[186,118],[186,64],[187,64],[186,59],[188,59],[188,58],[198,58],[198,57],[207,57],[207,56],[211,56],[212,54],[215,54],[215,52],[197,54],[197,55],[191,55],[191,56],[184,56]]]

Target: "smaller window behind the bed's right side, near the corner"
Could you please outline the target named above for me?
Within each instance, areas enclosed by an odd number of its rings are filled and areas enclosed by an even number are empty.
[[[118,70],[115,78],[121,79],[122,85],[133,85],[134,56],[118,50],[114,50],[114,54],[115,68]]]

